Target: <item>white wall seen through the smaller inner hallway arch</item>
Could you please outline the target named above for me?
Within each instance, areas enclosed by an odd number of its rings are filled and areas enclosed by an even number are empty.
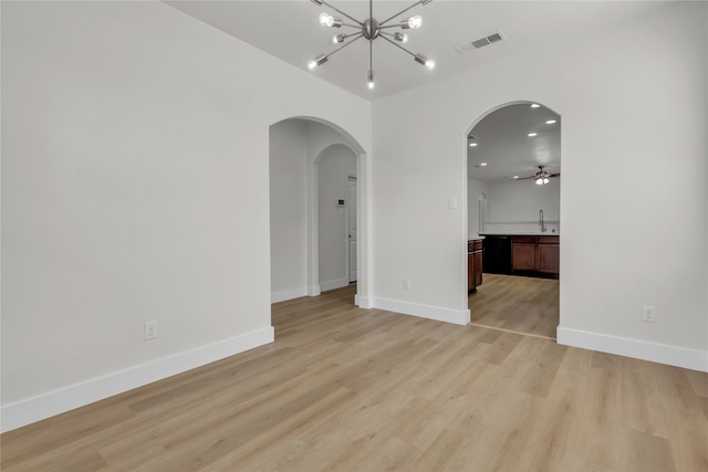
[[[342,145],[329,147],[317,164],[320,221],[320,285],[323,291],[348,285],[348,176],[356,177],[356,156]],[[344,200],[344,207],[336,201]]]

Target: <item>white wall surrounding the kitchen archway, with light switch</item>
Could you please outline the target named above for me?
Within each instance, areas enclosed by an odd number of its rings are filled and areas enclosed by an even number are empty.
[[[465,136],[492,108],[538,102],[563,116],[559,340],[708,370],[707,8],[376,102],[374,305],[466,307],[466,211],[446,204],[466,192]]]

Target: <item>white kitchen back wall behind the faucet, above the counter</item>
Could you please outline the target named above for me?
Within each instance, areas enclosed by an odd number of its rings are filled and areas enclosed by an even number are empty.
[[[534,180],[491,182],[488,185],[488,211],[485,232],[516,232],[541,230],[539,210],[543,210],[548,232],[560,230],[561,177],[549,179],[543,186]]]

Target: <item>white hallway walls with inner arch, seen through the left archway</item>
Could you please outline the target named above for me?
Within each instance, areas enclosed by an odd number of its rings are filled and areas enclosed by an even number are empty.
[[[271,302],[316,296],[320,285],[320,190],[317,164],[332,149],[355,156],[360,180],[355,220],[360,228],[355,303],[368,307],[367,159],[362,146],[336,125],[292,117],[270,126]],[[336,202],[332,202],[335,204]]]

